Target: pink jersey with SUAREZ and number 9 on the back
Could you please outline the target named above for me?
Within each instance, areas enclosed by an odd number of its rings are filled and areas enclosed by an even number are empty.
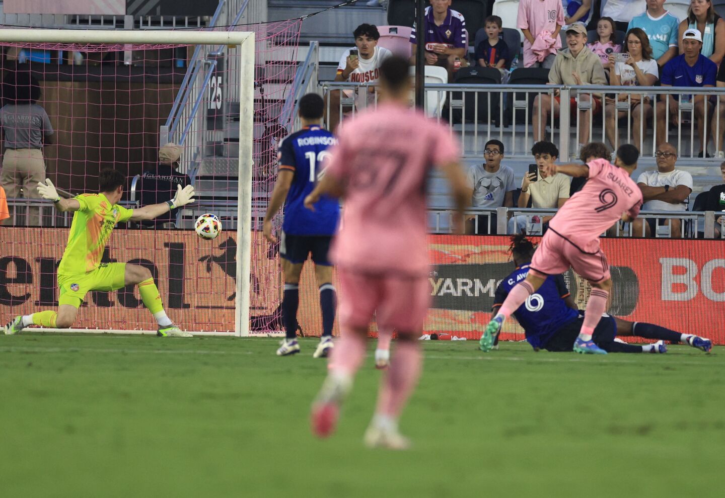
[[[599,245],[599,236],[619,221],[622,214],[637,217],[642,206],[642,190],[624,169],[605,159],[595,159],[587,166],[587,184],[566,201],[549,227],[580,250],[593,251]]]

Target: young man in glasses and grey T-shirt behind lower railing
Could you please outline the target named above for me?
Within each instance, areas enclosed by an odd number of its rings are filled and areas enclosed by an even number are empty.
[[[499,140],[489,140],[484,147],[484,164],[474,164],[468,169],[468,185],[471,185],[471,206],[474,208],[500,208],[505,206],[513,208],[513,191],[516,190],[513,169],[501,166],[503,159],[503,143]],[[466,232],[478,235],[496,235],[497,218],[494,215],[478,216],[478,229],[476,229],[476,216],[469,220]]]

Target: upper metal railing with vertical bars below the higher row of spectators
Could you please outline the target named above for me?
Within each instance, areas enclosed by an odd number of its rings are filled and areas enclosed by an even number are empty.
[[[328,115],[335,112],[340,119],[377,102],[374,83],[323,82],[319,86],[323,93],[347,90],[357,96],[341,98],[336,109],[328,101]],[[361,98],[370,88],[373,95]],[[556,117],[555,106],[559,107]],[[639,108],[645,108],[645,119],[639,119],[635,127]],[[505,143],[510,156],[529,156],[534,142],[551,140],[558,143],[560,161],[568,161],[576,158],[579,143],[600,141],[616,148],[636,141],[642,156],[653,159],[658,141],[669,141],[678,148],[679,157],[697,159],[703,147],[698,124],[708,142],[715,131],[713,153],[725,148],[721,139],[725,88],[426,83],[426,110],[447,121],[452,132],[459,132],[463,150],[473,154],[481,154],[484,143],[492,138]],[[659,139],[653,139],[658,135]]]

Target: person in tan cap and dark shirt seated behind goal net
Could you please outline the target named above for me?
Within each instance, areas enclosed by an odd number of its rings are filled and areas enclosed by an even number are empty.
[[[181,159],[181,146],[167,143],[159,148],[159,164],[155,171],[147,170],[138,179],[136,190],[141,194],[141,206],[150,206],[173,198],[179,187],[191,185],[188,174],[179,173]],[[165,223],[175,223],[178,209],[172,209],[167,214],[157,216],[155,219],[144,221],[144,224],[159,226]]]

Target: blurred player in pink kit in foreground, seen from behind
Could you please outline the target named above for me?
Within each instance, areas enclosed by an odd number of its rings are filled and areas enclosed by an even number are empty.
[[[339,405],[365,358],[374,312],[378,326],[397,330],[398,339],[365,444],[404,449],[408,442],[398,432],[397,419],[420,376],[417,339],[430,302],[428,172],[436,165],[447,176],[461,229],[471,190],[447,127],[408,108],[405,59],[392,56],[381,64],[380,91],[377,109],[363,111],[342,125],[325,176],[305,199],[305,206],[312,208],[323,194],[344,198],[341,230],[331,250],[340,277],[341,337],[312,405],[312,431],[320,437],[334,431]]]

